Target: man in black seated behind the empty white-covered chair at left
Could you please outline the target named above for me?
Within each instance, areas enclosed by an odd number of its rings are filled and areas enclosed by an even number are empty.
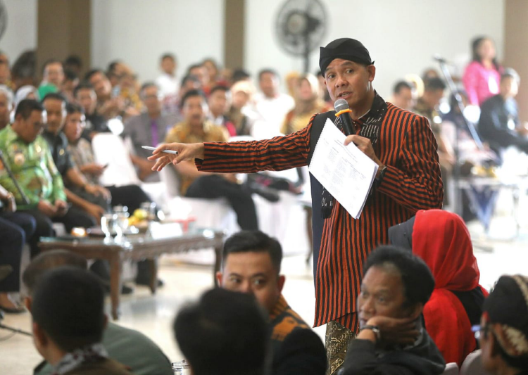
[[[96,112],[97,95],[94,87],[89,82],[81,82],[73,90],[75,103],[79,104],[84,109],[84,116],[86,118],[86,127],[82,132],[82,137],[87,141],[92,141],[92,138],[97,133],[110,132],[106,125],[106,119]]]

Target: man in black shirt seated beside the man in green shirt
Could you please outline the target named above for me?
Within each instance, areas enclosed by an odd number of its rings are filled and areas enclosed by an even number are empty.
[[[94,227],[111,200],[110,192],[97,184],[91,184],[79,171],[68,152],[68,139],[63,133],[66,102],[60,94],[48,94],[42,99],[46,110],[46,125],[42,136],[49,144],[58,172],[63,177],[68,201],[84,213],[87,222],[82,227]]]

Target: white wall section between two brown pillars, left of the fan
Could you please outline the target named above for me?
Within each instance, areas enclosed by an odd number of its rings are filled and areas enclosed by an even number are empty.
[[[140,82],[159,75],[158,60],[175,53],[177,75],[191,63],[223,61],[221,0],[92,0],[92,65],[121,59]]]

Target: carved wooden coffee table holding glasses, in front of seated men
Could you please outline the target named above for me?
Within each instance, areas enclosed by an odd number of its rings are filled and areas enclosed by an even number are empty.
[[[42,238],[39,248],[46,250],[70,250],[87,259],[108,260],[110,263],[110,296],[112,303],[112,317],[118,319],[119,298],[122,284],[122,262],[124,260],[144,260],[151,268],[150,288],[156,293],[158,286],[158,267],[156,259],[162,254],[185,253],[189,250],[203,248],[215,249],[215,273],[220,270],[222,260],[223,231],[211,229],[194,229],[185,234],[170,231],[161,236],[127,236],[127,241],[121,243],[106,243],[103,239],[57,239]]]

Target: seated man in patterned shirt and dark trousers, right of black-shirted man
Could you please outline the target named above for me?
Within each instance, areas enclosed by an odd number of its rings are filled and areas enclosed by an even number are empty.
[[[82,134],[82,108],[76,104],[68,103],[66,105],[66,118],[63,133],[68,139],[68,153],[70,153],[73,163],[77,166],[85,179],[90,184],[99,185],[99,176],[101,176],[104,166],[95,163],[92,145],[81,138]],[[106,186],[111,194],[110,204],[126,205],[130,212],[140,208],[142,203],[150,202],[151,199],[137,185]]]

